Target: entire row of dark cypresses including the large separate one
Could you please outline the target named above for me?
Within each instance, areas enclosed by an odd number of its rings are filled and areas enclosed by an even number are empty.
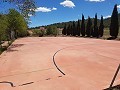
[[[117,4],[114,6],[113,13],[111,16],[111,23],[110,23],[110,35],[109,39],[117,38],[119,33],[119,21],[118,21],[118,11],[117,11]],[[82,14],[82,20],[72,24],[64,26],[62,31],[63,35],[71,35],[71,36],[86,36],[86,37],[102,37],[104,34],[104,23],[103,23],[103,16],[101,16],[100,25],[98,26],[98,19],[97,13],[95,14],[94,22],[92,23],[91,18],[88,16],[87,23],[85,23],[84,15]]]

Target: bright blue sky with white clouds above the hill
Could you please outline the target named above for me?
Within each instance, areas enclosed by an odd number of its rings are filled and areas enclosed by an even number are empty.
[[[58,22],[67,22],[81,19],[82,13],[85,18],[98,18],[103,15],[110,17],[115,4],[118,4],[120,12],[120,0],[35,0],[37,9],[35,16],[30,16],[29,27],[48,25]],[[1,4],[0,11],[7,12],[7,9],[15,7],[12,4]]]

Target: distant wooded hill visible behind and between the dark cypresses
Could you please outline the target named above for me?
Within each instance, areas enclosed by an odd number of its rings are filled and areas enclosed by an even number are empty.
[[[120,27],[120,13],[118,14],[118,18],[119,18],[118,20],[119,20],[119,27]],[[91,19],[92,19],[92,22],[94,23],[94,18],[91,18]],[[54,24],[51,24],[51,25],[55,25],[55,26],[57,26],[58,28],[63,28],[65,24],[66,24],[66,25],[69,25],[69,24],[72,24],[72,22],[73,22],[73,21],[60,22],[60,23],[54,23]],[[111,22],[111,18],[106,18],[106,19],[104,19],[104,26],[105,26],[106,28],[109,28],[110,22]],[[77,21],[75,21],[75,23],[77,24]],[[87,23],[87,19],[85,20],[85,23]],[[99,26],[99,24],[100,24],[100,19],[98,19],[98,26]],[[50,26],[50,25],[47,25],[47,26]],[[34,27],[34,28],[38,29],[39,27],[40,27],[40,26]],[[46,26],[45,26],[45,27],[46,27]]]

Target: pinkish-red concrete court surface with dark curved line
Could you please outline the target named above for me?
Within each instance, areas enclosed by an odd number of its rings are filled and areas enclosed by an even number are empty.
[[[119,63],[119,41],[21,38],[0,55],[0,90],[103,90]]]

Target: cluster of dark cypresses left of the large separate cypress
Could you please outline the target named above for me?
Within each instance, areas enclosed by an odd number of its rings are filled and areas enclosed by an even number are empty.
[[[77,24],[75,24],[75,21],[73,21],[72,24],[69,24],[68,26],[65,25],[62,34],[71,35],[71,36],[82,36],[82,37],[84,36],[102,37],[103,30],[104,30],[103,16],[101,16],[100,26],[98,27],[97,14],[95,15],[94,24],[92,23],[91,18],[88,16],[87,25],[85,25],[84,15],[82,14],[81,23],[80,20],[78,20]]]

